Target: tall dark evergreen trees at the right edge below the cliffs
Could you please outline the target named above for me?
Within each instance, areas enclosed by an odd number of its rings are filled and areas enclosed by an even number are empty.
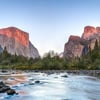
[[[83,56],[79,60],[79,63],[79,66],[82,66],[82,68],[86,67],[87,69],[100,69],[100,42],[96,40],[94,49],[91,50],[89,47],[88,54]]]

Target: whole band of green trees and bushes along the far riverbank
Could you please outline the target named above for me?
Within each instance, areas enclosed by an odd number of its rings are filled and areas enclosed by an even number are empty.
[[[11,55],[6,48],[0,53],[1,69],[35,69],[35,70],[80,70],[80,69],[100,69],[100,45],[95,42],[94,50],[89,48],[87,55],[81,58],[65,59],[60,58],[57,53],[50,51],[43,58],[28,59],[21,55]]]

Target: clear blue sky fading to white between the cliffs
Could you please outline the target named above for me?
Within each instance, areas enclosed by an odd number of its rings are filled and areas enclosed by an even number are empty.
[[[29,33],[40,55],[61,53],[70,35],[87,25],[100,26],[100,0],[0,0],[0,28]]]

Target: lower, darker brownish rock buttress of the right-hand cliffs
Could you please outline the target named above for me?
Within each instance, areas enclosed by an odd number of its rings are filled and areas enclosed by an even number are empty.
[[[87,41],[78,36],[70,36],[68,42],[65,44],[64,57],[80,57],[82,55],[84,45],[87,44],[86,42]]]

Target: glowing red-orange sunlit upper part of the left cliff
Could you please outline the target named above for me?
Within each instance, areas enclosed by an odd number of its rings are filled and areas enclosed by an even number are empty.
[[[16,27],[0,29],[0,34],[5,35],[8,38],[14,38],[26,47],[29,45],[29,34]]]

